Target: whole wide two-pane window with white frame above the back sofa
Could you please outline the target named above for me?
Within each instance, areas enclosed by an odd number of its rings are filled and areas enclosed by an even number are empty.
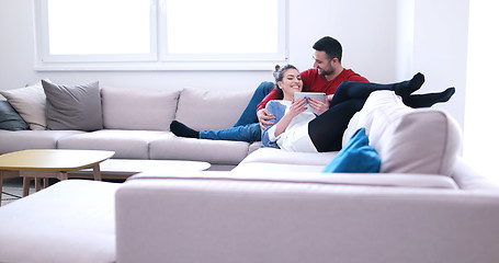
[[[286,0],[36,1],[37,68],[271,68]]]

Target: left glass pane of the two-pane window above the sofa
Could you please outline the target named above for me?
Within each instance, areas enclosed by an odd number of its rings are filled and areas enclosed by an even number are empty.
[[[43,61],[155,59],[156,12],[149,1],[46,0],[42,3]]]

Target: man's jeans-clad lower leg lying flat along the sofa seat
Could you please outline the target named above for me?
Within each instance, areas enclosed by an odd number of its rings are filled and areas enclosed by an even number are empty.
[[[261,139],[260,124],[253,123],[220,130],[201,130],[200,139],[253,142]]]

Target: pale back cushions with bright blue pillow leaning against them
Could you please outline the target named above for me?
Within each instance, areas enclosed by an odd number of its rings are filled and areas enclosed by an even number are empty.
[[[325,172],[450,176],[461,141],[457,123],[445,112],[411,108],[393,91],[375,91],[350,121],[343,149]]]

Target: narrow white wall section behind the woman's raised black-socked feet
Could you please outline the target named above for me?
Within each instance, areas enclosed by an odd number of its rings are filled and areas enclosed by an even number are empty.
[[[426,75],[422,92],[455,87],[456,93],[435,107],[451,113],[464,127],[468,0],[417,0],[413,70]]]

